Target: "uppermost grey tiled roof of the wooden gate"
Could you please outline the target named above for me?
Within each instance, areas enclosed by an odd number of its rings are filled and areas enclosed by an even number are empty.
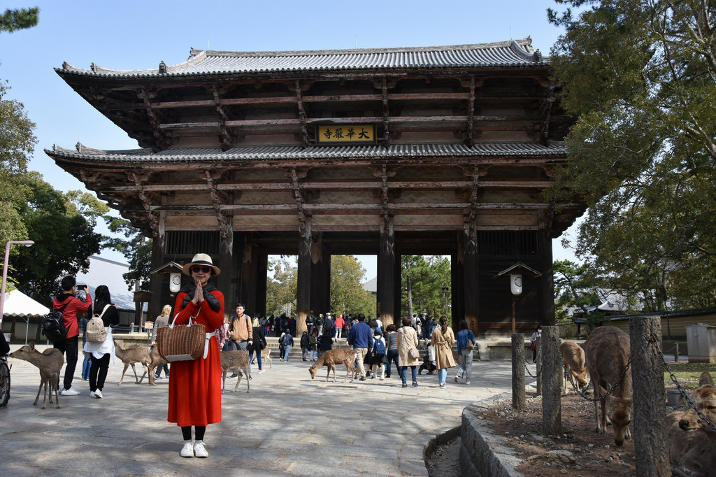
[[[487,67],[544,67],[533,52],[531,39],[463,44],[447,47],[339,49],[304,52],[217,52],[192,49],[187,61],[156,69],[119,70],[92,64],[91,69],[66,62],[57,72],[95,77],[167,77],[205,74],[336,71],[361,69],[450,69]],[[160,72],[160,69],[162,70]]]

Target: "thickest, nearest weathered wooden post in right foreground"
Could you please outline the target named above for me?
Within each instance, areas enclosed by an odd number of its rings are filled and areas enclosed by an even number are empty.
[[[637,476],[670,476],[660,317],[629,319],[634,382],[634,456]]]

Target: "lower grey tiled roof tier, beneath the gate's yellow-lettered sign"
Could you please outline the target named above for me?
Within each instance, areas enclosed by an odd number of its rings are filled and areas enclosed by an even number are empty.
[[[238,146],[226,151],[220,148],[168,148],[158,153],[150,149],[100,150],[77,143],[76,149],[54,145],[45,153],[52,157],[85,159],[92,162],[187,163],[196,161],[223,162],[237,160],[301,160],[301,159],[390,159],[434,157],[524,157],[566,155],[564,143],[548,146],[539,143],[477,143],[468,147],[458,144],[393,144],[353,146]]]

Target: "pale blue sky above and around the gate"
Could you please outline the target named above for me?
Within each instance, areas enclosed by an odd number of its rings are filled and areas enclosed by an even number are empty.
[[[5,8],[39,6],[38,26],[0,34],[0,79],[8,98],[24,103],[37,124],[39,143],[29,168],[54,188],[84,186],[54,164],[43,150],[53,144],[73,148],[136,148],[130,139],[73,92],[54,72],[68,62],[112,69],[178,64],[190,48],[277,51],[417,47],[500,42],[532,38],[548,56],[561,30],[548,24],[553,0],[341,1],[17,1]],[[554,241],[555,258],[563,256]],[[103,256],[105,256],[103,254]],[[117,256],[107,256],[118,259]],[[122,261],[122,257],[119,257]],[[368,278],[374,264],[364,261]]]

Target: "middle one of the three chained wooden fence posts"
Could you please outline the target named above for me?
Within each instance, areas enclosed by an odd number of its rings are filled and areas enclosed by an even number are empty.
[[[542,380],[542,433],[561,435],[562,433],[562,358],[559,354],[559,328],[542,327],[541,373]],[[538,360],[540,357],[538,357]],[[662,395],[663,397],[663,395]]]

